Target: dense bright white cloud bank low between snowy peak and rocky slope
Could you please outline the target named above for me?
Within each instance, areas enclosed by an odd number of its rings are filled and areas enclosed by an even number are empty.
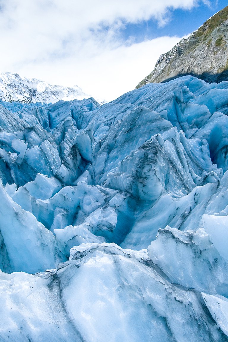
[[[152,71],[158,57],[180,40],[161,37],[146,42],[97,51],[94,56],[79,55],[53,63],[30,63],[20,68],[21,75],[44,79],[54,84],[78,85],[86,93],[107,101],[133,90]]]

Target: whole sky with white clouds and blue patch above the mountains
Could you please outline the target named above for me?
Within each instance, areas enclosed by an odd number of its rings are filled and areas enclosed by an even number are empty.
[[[111,101],[224,0],[0,0],[0,72]]]

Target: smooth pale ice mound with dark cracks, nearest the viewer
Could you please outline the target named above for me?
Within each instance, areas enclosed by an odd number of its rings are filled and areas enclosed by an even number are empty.
[[[145,251],[82,244],[70,259],[1,275],[1,341],[227,341],[209,313],[226,298],[171,284]]]

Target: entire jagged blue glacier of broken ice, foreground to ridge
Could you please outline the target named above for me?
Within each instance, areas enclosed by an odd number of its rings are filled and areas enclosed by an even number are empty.
[[[192,76],[1,103],[1,341],[228,341],[227,114]]]

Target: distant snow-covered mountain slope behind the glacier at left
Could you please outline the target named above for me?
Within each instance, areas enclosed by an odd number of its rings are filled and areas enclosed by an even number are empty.
[[[91,95],[83,93],[78,86],[67,88],[53,86],[35,78],[28,79],[18,74],[0,74],[0,99],[21,103],[55,103],[59,100],[83,100]]]

